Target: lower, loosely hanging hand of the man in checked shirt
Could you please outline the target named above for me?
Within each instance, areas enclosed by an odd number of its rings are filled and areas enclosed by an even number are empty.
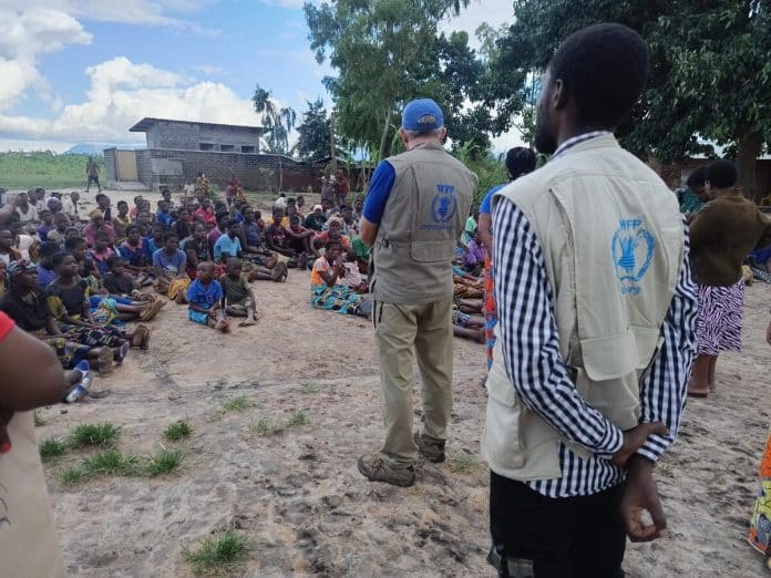
[[[650,514],[652,524],[644,519]],[[620,505],[621,520],[631,541],[651,541],[667,537],[667,518],[654,479],[654,463],[636,455],[629,460],[627,482]]]

